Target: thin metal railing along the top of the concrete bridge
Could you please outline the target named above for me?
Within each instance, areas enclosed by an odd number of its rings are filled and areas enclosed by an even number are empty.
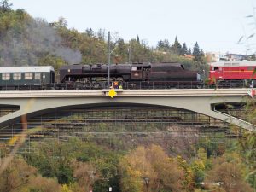
[[[0,84],[0,90],[102,90],[102,89],[124,89],[124,90],[158,90],[158,89],[207,89],[207,88],[245,88],[248,84],[238,84],[236,81],[224,84],[209,85],[196,81],[132,81],[118,82],[118,85],[107,82],[67,82],[55,84]]]

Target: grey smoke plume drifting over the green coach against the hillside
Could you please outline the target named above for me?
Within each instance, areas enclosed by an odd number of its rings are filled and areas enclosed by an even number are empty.
[[[69,64],[81,62],[79,50],[61,45],[55,28],[40,19],[31,19],[23,26],[14,26],[0,35],[1,66],[36,66],[39,58],[51,54]],[[49,63],[51,65],[51,63]]]

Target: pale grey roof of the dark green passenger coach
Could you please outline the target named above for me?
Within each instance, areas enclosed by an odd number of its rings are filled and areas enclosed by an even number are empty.
[[[26,67],[0,67],[0,73],[26,73],[26,72],[51,72],[51,66],[26,66]]]

